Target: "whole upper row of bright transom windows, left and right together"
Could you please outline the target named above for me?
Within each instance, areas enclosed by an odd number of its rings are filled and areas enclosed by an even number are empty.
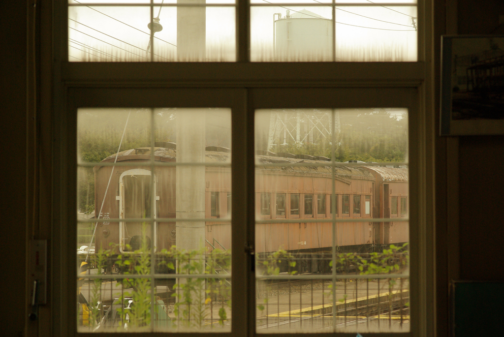
[[[236,61],[238,3],[93,6],[71,0],[69,61]],[[337,3],[334,11],[330,1],[309,7],[276,3],[250,2],[253,61],[417,60],[415,1],[380,6],[359,0]]]

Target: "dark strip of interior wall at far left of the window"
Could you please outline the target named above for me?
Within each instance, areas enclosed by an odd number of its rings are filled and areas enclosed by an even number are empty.
[[[0,1],[0,113],[2,114],[1,335],[22,336],[26,326],[27,3]]]

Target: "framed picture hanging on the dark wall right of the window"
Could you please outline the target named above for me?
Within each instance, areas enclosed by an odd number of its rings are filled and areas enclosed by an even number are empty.
[[[440,134],[504,134],[504,36],[442,37]]]

